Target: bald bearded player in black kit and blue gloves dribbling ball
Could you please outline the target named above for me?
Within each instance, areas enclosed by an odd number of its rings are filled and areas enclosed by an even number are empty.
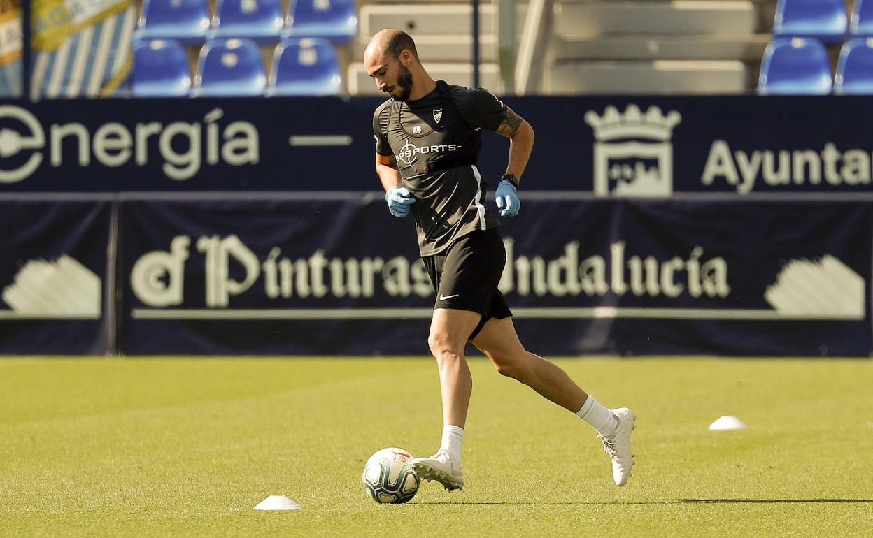
[[[435,455],[413,460],[416,474],[449,491],[464,487],[461,443],[472,390],[464,346],[471,341],[499,373],[594,426],[612,460],[615,484],[623,486],[634,465],[634,413],[604,407],[560,367],[526,351],[498,291],[506,252],[497,215],[485,206],[485,180],[477,167],[480,130],[510,140],[495,196],[499,215],[511,217],[519,213],[517,189],[533,128],[481,88],[430,78],[403,31],[376,33],[364,51],[364,66],[391,97],[373,115],[376,174],[391,214],[415,217],[418,247],[436,289],[428,344],[439,370],[443,438]]]

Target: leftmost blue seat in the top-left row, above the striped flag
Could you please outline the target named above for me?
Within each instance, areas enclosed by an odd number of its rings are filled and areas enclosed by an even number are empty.
[[[205,0],[144,0],[134,39],[199,43],[206,38],[209,27]]]

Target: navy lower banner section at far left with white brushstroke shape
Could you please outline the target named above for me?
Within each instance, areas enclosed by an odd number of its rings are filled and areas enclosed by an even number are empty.
[[[0,353],[113,350],[111,201],[0,201]]]

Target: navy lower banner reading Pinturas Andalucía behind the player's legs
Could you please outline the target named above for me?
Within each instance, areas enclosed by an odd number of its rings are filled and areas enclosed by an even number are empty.
[[[124,353],[428,353],[413,223],[380,194],[121,200]],[[862,202],[523,203],[500,286],[532,351],[870,353]]]

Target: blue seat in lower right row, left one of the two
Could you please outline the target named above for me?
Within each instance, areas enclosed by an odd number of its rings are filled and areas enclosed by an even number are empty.
[[[758,92],[762,95],[823,95],[831,90],[828,51],[804,37],[779,37],[766,46]]]

